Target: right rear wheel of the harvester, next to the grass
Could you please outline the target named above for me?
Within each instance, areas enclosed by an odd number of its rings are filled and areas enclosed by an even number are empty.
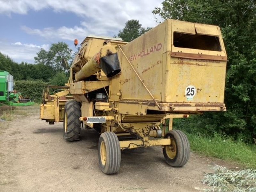
[[[171,139],[171,145],[165,145],[163,148],[166,162],[173,167],[184,166],[188,162],[190,154],[187,136],[180,130],[171,130],[164,138]]]

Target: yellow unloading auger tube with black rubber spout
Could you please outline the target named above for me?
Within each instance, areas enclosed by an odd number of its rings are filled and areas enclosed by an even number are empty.
[[[76,81],[83,81],[102,69],[107,77],[120,73],[120,63],[116,49],[110,44],[104,45],[75,75]]]

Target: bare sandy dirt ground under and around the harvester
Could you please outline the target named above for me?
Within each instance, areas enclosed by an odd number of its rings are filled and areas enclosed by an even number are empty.
[[[0,191],[198,191],[216,162],[191,153],[188,164],[165,163],[161,147],[122,151],[117,174],[98,165],[99,134],[82,130],[77,142],[62,139],[63,125],[39,119],[39,107],[0,122]]]

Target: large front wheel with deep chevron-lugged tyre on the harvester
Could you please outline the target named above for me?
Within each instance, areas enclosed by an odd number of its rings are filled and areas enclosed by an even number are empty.
[[[77,101],[68,101],[64,108],[64,135],[65,141],[80,140],[81,132],[81,103]]]

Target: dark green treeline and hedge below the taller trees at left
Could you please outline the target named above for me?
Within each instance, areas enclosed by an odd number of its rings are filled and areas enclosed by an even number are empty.
[[[0,53],[0,70],[8,71],[15,81],[14,89],[22,96],[41,101],[42,90],[47,84],[65,85],[68,74],[57,71],[52,66],[38,63],[16,63],[8,56]]]

